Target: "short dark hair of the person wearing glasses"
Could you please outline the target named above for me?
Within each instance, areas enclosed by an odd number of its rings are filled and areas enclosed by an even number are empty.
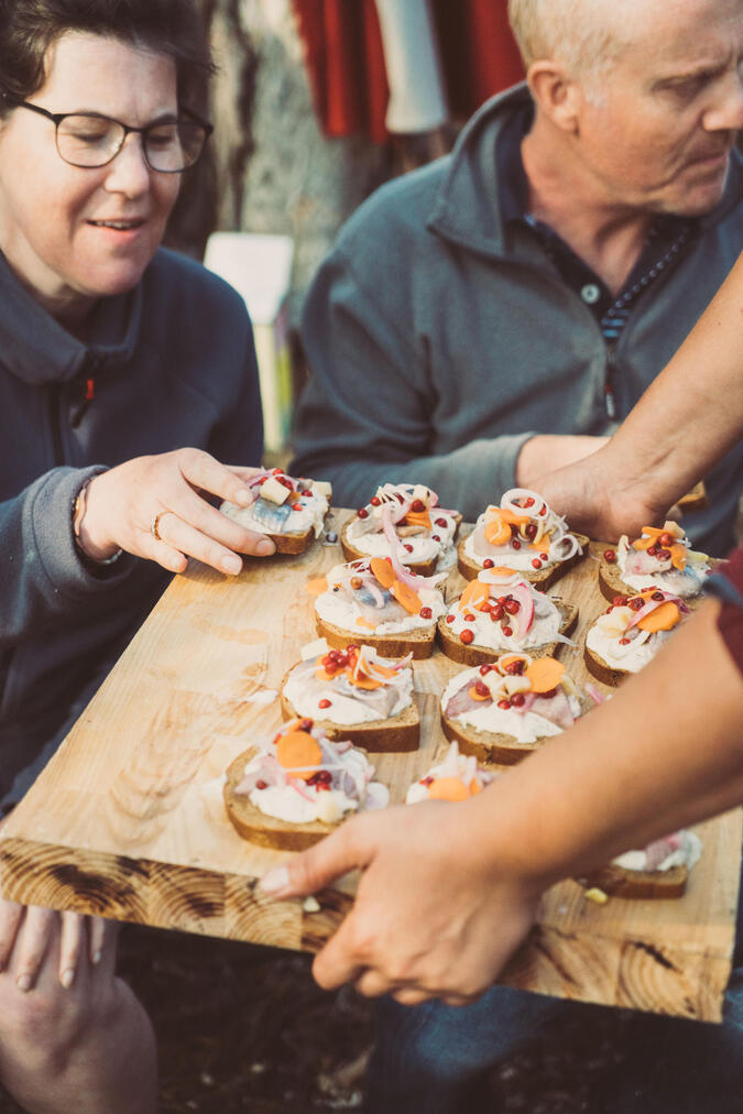
[[[178,104],[203,111],[214,67],[195,0],[0,0],[0,90],[27,100],[40,89],[47,50],[67,31],[173,58]],[[0,118],[11,107],[0,99]]]

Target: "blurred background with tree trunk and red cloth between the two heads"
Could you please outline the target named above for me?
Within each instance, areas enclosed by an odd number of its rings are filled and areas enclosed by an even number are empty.
[[[446,154],[524,71],[507,0],[199,3],[215,133],[167,243],[245,297],[268,459],[284,462],[305,375],[302,300],[340,226],[383,182]]]

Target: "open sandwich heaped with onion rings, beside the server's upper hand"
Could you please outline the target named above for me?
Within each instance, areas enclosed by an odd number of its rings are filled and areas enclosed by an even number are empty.
[[[544,592],[580,560],[587,545],[538,492],[511,488],[459,546],[459,571],[473,580],[482,569],[507,567]]]

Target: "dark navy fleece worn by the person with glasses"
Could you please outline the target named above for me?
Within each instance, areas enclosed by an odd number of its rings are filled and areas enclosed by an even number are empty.
[[[101,300],[84,344],[0,256],[0,436],[1,810],[17,775],[6,807],[28,788],[168,580],[128,555],[99,571],[81,559],[71,506],[85,479],[183,446],[229,463],[260,460],[242,299],[159,251],[134,291]]]

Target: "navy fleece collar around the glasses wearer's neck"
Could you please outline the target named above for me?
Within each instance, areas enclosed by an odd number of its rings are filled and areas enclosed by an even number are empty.
[[[65,383],[95,363],[114,372],[133,354],[139,335],[141,283],[127,294],[100,299],[86,343],[68,333],[19,283],[0,253],[0,363],[31,387]]]

